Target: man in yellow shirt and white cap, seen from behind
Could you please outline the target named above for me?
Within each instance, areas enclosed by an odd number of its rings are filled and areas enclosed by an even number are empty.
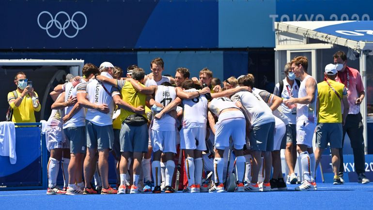
[[[318,89],[318,117],[316,127],[316,165],[319,164],[321,154],[330,143],[332,166],[334,171],[333,184],[342,184],[338,176],[340,167],[339,148],[342,148],[342,125],[348,114],[347,90],[344,84],[335,81],[337,71],[342,64],[328,64],[325,67],[326,80],[317,84]],[[343,103],[343,114],[342,114]]]

